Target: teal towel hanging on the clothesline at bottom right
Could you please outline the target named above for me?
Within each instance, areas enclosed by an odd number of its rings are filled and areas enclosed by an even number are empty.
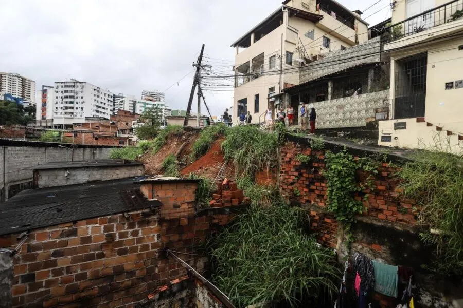
[[[399,282],[398,267],[373,260],[375,268],[375,291],[387,296],[397,297]]]

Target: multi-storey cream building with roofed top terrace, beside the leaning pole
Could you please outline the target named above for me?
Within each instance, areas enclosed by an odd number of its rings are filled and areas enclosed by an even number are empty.
[[[235,47],[232,121],[250,111],[263,122],[285,87],[299,84],[299,70],[330,51],[368,40],[362,12],[334,0],[287,0],[264,21],[231,44]],[[278,100],[277,100],[278,102]]]

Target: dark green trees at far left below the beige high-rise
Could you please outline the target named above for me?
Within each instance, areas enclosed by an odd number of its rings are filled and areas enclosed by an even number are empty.
[[[16,102],[0,100],[0,125],[26,125],[35,120],[35,106],[24,108]]]

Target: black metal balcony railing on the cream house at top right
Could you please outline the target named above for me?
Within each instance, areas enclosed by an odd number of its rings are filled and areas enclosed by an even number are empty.
[[[463,0],[454,0],[407,18],[384,29],[383,42],[390,43],[463,17]]]

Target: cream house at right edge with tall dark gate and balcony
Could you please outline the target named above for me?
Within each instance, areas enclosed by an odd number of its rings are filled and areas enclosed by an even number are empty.
[[[463,152],[463,2],[399,0],[386,29],[390,111],[383,146]]]

